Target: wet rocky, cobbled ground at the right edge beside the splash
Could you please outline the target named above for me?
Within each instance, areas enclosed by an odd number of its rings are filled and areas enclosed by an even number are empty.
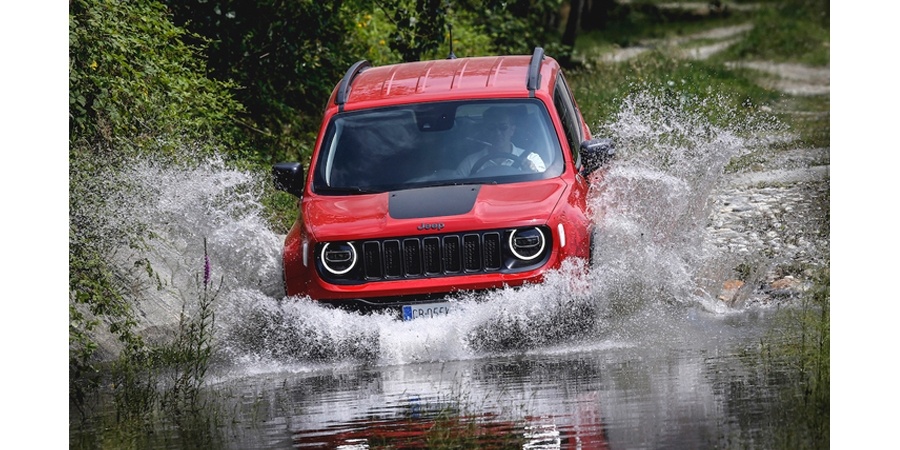
[[[725,282],[719,299],[734,305],[796,298],[813,268],[829,260],[829,149],[773,156],[771,168],[730,176],[714,201],[714,245],[744,261],[753,283]],[[806,166],[787,169],[791,162]],[[802,164],[797,162],[797,164]]]

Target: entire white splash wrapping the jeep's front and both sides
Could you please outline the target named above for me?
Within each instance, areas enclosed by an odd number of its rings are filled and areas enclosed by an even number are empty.
[[[399,322],[282,298],[282,238],[259,203],[266,177],[218,158],[196,167],[139,162],[121,174],[140,194],[115,214],[145,224],[152,239],[148,250],[119,261],[152,267],[160,289],[143,289],[136,304],[146,330],[164,329],[196,293],[207,238],[220,289],[218,348],[241,366],[466,359],[583,345],[602,339],[620,317],[659,305],[717,310],[705,289],[710,267],[720,263],[706,239],[709,198],[731,158],[759,144],[746,136],[767,133],[746,122],[739,130],[713,126],[689,106],[639,93],[599,127],[618,156],[591,198],[599,221],[592,267],[569,262],[541,285],[461,295],[446,317]]]

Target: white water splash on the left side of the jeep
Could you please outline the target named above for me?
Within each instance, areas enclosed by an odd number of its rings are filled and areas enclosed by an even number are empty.
[[[268,296],[283,292],[282,239],[267,226],[259,203],[267,179],[228,168],[221,157],[192,165],[140,158],[98,176],[109,179],[98,194],[102,207],[81,214],[104,215],[94,222],[111,229],[141,230],[146,245],[119,243],[110,259],[146,337],[171,335],[182,306],[190,309],[207,277],[224,294],[217,303],[239,287]]]

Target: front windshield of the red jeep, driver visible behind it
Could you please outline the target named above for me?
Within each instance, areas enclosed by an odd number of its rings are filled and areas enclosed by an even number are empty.
[[[422,103],[335,115],[313,190],[352,195],[516,183],[562,172],[559,139],[540,101]]]

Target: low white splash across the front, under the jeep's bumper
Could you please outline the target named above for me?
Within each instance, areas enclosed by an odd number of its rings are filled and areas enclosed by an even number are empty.
[[[231,317],[223,339],[245,362],[343,361],[379,364],[448,361],[572,340],[597,316],[585,270],[569,263],[544,284],[461,294],[449,315],[401,322],[322,307],[307,298],[275,299],[231,292],[220,317]],[[581,338],[587,339],[589,335]]]

